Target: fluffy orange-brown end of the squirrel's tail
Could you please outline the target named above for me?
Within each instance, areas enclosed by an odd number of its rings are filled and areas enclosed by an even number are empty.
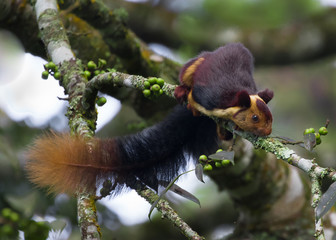
[[[88,144],[69,134],[46,134],[28,151],[28,178],[49,192],[94,191],[96,177],[115,170],[113,159],[106,161],[100,145],[97,139]]]

